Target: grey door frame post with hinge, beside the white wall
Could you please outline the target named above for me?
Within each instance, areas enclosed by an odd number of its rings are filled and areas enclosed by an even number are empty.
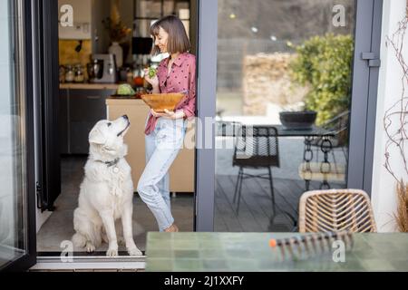
[[[356,85],[352,88],[347,187],[363,189],[371,196],[383,0],[355,2],[353,83]],[[374,53],[374,57],[364,59],[362,53]],[[378,63],[372,65],[371,60]]]

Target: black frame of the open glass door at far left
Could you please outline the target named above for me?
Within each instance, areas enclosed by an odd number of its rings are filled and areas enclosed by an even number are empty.
[[[15,261],[0,267],[2,271],[25,271],[36,263],[36,231],[35,231],[35,148],[34,148],[34,94],[33,94],[33,53],[32,53],[32,6],[31,1],[17,0],[15,9],[21,17],[15,17],[15,29],[18,29],[23,37],[20,38],[19,51],[23,58],[24,71],[20,76],[18,85],[21,99],[24,105],[24,150],[25,157],[25,196],[24,196],[24,235],[26,253]],[[15,45],[16,43],[13,43]]]

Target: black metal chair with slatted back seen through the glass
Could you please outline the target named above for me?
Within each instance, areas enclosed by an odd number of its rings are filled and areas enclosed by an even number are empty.
[[[237,204],[241,198],[242,181],[249,178],[269,179],[272,208],[275,214],[275,194],[271,167],[279,167],[279,150],[277,142],[277,129],[272,126],[245,126],[238,133],[234,149],[232,166],[238,166],[238,178],[235,187],[233,202]],[[244,169],[268,169],[264,174],[244,173]]]

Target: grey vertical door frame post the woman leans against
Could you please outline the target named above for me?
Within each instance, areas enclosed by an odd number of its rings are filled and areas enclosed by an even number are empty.
[[[218,0],[197,0],[197,118],[195,230],[214,230],[215,120],[217,101]],[[202,96],[202,97],[201,97]],[[205,97],[204,97],[205,96]],[[206,122],[205,120],[211,120]],[[211,134],[205,134],[211,132]]]

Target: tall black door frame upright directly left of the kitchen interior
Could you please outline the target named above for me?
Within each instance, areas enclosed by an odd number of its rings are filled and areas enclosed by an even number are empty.
[[[37,208],[53,211],[61,193],[59,146],[58,1],[32,0],[34,103],[37,121]]]

